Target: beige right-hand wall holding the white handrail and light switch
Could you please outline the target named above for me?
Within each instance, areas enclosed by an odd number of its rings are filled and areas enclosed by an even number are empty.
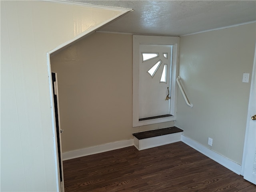
[[[176,126],[184,135],[242,164],[255,23],[180,38],[180,76],[193,108],[178,91]],[[207,144],[213,139],[212,147]]]

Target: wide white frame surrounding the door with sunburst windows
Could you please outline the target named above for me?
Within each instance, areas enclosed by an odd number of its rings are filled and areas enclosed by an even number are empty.
[[[133,35],[133,102],[132,102],[132,127],[142,125],[150,125],[154,123],[162,123],[176,120],[176,98],[177,86],[176,76],[178,74],[178,52],[179,52],[179,37],[167,36],[142,36]],[[173,46],[172,49],[172,71],[171,71],[171,103],[170,112],[172,116],[162,117],[158,119],[148,119],[139,121],[139,59],[140,59],[140,45],[168,45]]]

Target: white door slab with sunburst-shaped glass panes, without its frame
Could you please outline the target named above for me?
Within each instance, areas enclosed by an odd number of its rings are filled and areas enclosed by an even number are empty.
[[[140,45],[139,119],[170,115],[172,46]]]

